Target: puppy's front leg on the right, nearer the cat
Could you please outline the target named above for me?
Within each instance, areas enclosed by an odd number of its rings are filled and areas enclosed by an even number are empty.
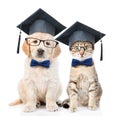
[[[57,100],[57,87],[55,86],[48,87],[46,94],[46,109],[48,111],[55,112],[58,110],[56,100]]]

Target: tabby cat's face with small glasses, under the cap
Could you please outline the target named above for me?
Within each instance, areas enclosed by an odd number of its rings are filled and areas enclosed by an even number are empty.
[[[94,45],[88,41],[77,41],[70,47],[70,53],[73,58],[85,60],[92,57]]]

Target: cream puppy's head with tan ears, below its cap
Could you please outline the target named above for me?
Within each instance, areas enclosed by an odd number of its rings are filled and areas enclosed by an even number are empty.
[[[52,40],[54,41],[54,38],[52,35],[47,34],[47,33],[34,33],[29,36],[29,38],[33,39],[28,39],[25,40],[23,43],[23,51],[28,57],[31,57],[32,59],[35,59],[37,61],[44,61],[44,60],[52,60],[53,58],[56,58],[59,56],[61,49],[59,47],[59,44],[56,44],[55,47],[49,47],[49,44],[55,44],[53,42],[49,43],[44,42],[44,40]],[[36,39],[34,39],[36,38]],[[42,41],[40,41],[42,40]],[[40,42],[38,45],[37,42]],[[48,46],[48,47],[46,47]]]

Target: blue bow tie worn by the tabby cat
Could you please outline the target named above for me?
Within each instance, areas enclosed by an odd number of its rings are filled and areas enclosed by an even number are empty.
[[[86,59],[84,61],[79,61],[79,60],[76,60],[76,59],[72,60],[72,66],[73,67],[80,66],[80,65],[92,66],[93,65],[92,58],[88,58],[88,59]]]

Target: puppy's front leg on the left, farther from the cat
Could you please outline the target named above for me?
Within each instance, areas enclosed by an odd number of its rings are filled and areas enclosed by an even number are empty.
[[[34,83],[29,80],[21,80],[18,85],[18,91],[20,94],[20,99],[25,104],[23,111],[32,112],[36,108],[36,90]]]

